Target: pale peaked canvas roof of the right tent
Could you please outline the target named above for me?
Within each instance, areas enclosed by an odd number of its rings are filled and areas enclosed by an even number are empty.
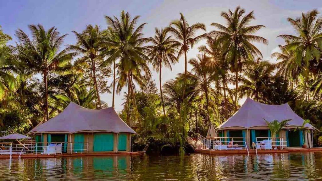
[[[232,117],[223,122],[216,129],[252,129],[252,128],[264,128],[267,127],[267,123],[264,120],[273,121],[277,119],[282,121],[284,119],[291,119],[288,122],[287,128],[301,127],[304,119],[299,117],[290,107],[289,104],[281,105],[268,105],[260,102],[256,102],[250,98],[247,98],[242,107],[235,112]],[[304,125],[306,129],[315,129],[311,124]],[[268,128],[267,128],[268,129]]]

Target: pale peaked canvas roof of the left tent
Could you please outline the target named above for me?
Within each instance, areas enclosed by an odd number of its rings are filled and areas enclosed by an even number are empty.
[[[134,133],[116,113],[113,107],[92,110],[71,102],[65,110],[43,124],[37,125],[27,134],[113,132]]]

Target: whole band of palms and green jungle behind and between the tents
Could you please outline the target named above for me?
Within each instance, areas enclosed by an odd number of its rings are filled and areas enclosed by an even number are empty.
[[[232,116],[244,97],[288,103],[322,130],[322,18],[317,10],[287,19],[295,33],[277,37],[285,42],[271,54],[276,63],[263,60],[254,44],[269,42],[257,35],[265,26],[253,25],[253,11],[238,6],[222,12],[225,23],[214,19],[213,31],[182,13],[174,18],[146,37],[146,23],[122,11],[105,16],[107,29],[87,25],[73,31],[77,42],[67,46],[67,34],[55,27],[17,29],[15,45],[7,44],[12,38],[0,27],[0,131],[24,134],[70,101],[90,109],[114,106],[116,94],[124,95],[119,116],[137,131],[140,150],[148,143],[150,151],[189,152],[187,135],[205,135],[210,123],[218,126]],[[187,57],[192,48],[199,53]],[[162,84],[162,71],[176,63],[185,71]],[[151,71],[159,80],[151,79]],[[102,93],[113,99],[100,100]],[[314,145],[322,143],[320,135],[313,135]]]

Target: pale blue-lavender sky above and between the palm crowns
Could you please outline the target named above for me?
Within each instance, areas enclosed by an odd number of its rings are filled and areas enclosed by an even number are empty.
[[[15,31],[19,28],[27,34],[28,24],[43,24],[46,29],[55,26],[61,34],[69,34],[64,44],[75,44],[76,38],[71,31],[81,32],[86,25],[98,24],[102,29],[107,28],[104,15],[117,16],[122,10],[131,14],[132,17],[140,15],[138,24],[148,23],[143,33],[147,36],[154,35],[155,27],[162,28],[169,25],[169,22],[180,18],[183,13],[189,24],[196,22],[206,24],[207,31],[214,30],[210,24],[225,24],[220,13],[234,10],[241,6],[246,13],[254,11],[255,20],[253,25],[264,25],[257,35],[266,38],[268,45],[255,45],[263,54],[264,60],[276,62],[270,58],[272,52],[279,51],[278,45],[283,43],[280,34],[293,34],[292,26],[287,21],[288,17],[296,18],[302,12],[317,9],[322,13],[320,0],[0,0],[0,25],[3,32],[9,34],[13,40],[9,44],[15,44]],[[204,32],[198,32],[202,34]],[[204,42],[195,45],[188,53],[187,58],[195,58],[198,53],[197,47]],[[179,63],[172,66],[173,71],[163,69],[162,83],[174,79],[178,73],[184,72],[184,57]],[[191,69],[188,66],[188,71]],[[152,69],[151,69],[152,71]],[[158,87],[158,72],[152,71],[152,78]],[[125,91],[125,90],[124,90]],[[123,91],[122,91],[123,92]],[[116,95],[115,109],[122,110],[123,93]],[[112,94],[101,94],[101,100],[112,105]],[[245,99],[239,101],[243,103]]]

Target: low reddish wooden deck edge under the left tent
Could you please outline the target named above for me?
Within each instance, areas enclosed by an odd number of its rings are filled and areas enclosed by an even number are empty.
[[[82,157],[82,156],[113,156],[113,155],[143,155],[143,151],[137,152],[92,152],[92,153],[63,153],[63,154],[50,154],[50,155],[42,155],[42,154],[24,154],[21,155],[21,158],[57,158],[57,157]],[[12,155],[12,158],[18,158],[18,155]],[[10,158],[10,155],[0,155],[0,158]]]

